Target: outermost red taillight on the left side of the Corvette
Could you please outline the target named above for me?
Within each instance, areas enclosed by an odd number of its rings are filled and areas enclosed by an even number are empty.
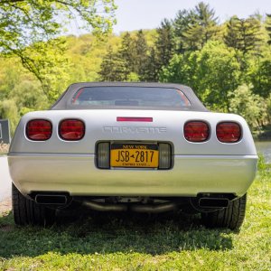
[[[35,141],[48,140],[51,137],[51,122],[45,119],[33,119],[26,125],[26,136]]]

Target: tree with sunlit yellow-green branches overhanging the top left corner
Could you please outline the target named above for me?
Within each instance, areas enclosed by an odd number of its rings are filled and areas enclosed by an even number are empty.
[[[56,54],[63,50],[62,40],[57,36],[63,31],[65,23],[78,18],[86,29],[101,35],[111,31],[115,9],[114,0],[1,1],[0,51],[6,56],[18,56],[23,67],[41,81],[44,91],[48,91],[51,83],[48,84],[49,76],[44,75],[44,71],[63,64]],[[54,51],[53,61],[49,57],[51,51],[47,51],[51,48]],[[49,75],[58,77],[59,74],[59,70],[52,69]],[[49,94],[49,98],[55,97],[55,93]]]

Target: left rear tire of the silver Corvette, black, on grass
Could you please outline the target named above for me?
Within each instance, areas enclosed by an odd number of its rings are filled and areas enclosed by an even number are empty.
[[[55,221],[55,210],[29,200],[12,184],[14,222],[16,225],[49,226]]]

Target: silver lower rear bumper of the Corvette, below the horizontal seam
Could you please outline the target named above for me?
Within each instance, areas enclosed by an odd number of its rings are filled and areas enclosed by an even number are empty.
[[[24,194],[70,192],[71,196],[194,197],[201,192],[242,196],[257,172],[257,155],[174,155],[171,170],[95,166],[94,154],[8,156],[15,186]]]

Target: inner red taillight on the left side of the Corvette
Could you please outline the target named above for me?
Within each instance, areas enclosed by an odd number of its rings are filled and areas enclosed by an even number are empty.
[[[85,135],[85,124],[79,119],[64,119],[59,132],[64,140],[80,140]]]

